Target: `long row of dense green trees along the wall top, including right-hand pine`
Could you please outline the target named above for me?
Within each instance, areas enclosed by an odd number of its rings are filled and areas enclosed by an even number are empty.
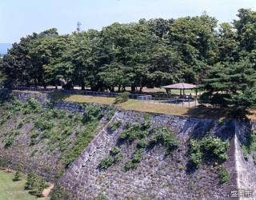
[[[230,105],[255,94],[255,63],[256,12],[240,9],[233,23],[219,25],[203,13],[66,35],[56,29],[33,33],[0,60],[0,84],[142,91],[189,82],[200,84],[209,99],[222,97]]]

